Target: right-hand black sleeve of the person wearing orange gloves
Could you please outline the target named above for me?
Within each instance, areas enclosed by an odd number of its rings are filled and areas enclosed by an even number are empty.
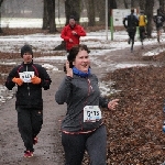
[[[44,67],[41,67],[40,70],[41,70],[41,74],[40,74],[41,75],[41,86],[44,88],[44,90],[47,90],[47,89],[50,89],[50,85],[51,85],[52,80]]]

